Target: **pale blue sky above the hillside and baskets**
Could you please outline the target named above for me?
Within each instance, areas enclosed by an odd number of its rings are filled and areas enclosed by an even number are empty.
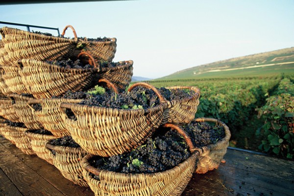
[[[159,78],[219,60],[294,47],[294,0],[123,0],[0,5],[0,21],[117,38],[114,62]],[[11,26],[26,30],[26,27]],[[31,28],[34,31],[57,31]],[[68,29],[66,36],[73,37]]]

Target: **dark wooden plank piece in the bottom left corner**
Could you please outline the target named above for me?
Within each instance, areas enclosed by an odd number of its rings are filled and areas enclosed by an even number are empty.
[[[0,169],[0,196],[23,196],[7,175]]]

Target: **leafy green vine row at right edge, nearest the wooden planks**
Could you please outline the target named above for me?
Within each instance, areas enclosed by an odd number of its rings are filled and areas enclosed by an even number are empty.
[[[290,79],[283,79],[274,95],[257,109],[258,117],[265,124],[257,135],[263,135],[260,149],[289,159],[294,158],[294,85]]]

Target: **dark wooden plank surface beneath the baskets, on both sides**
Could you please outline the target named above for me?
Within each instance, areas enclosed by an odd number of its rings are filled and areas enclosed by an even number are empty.
[[[194,174],[182,196],[294,196],[294,162],[228,149],[226,163]],[[0,196],[94,196],[0,136]]]

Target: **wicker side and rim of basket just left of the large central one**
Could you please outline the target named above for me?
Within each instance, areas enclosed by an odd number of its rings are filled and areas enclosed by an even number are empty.
[[[79,103],[80,99],[65,98],[41,98],[33,100],[42,106],[41,111],[36,111],[38,121],[46,130],[49,130],[54,136],[63,137],[70,135],[68,126],[65,123],[66,114],[60,107],[61,103]],[[28,101],[30,103],[30,101]]]

